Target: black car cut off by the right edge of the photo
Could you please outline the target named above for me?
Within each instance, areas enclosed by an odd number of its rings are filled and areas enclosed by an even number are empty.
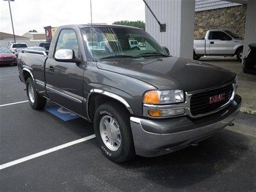
[[[243,60],[243,72],[256,75],[256,44],[249,45],[250,50]]]

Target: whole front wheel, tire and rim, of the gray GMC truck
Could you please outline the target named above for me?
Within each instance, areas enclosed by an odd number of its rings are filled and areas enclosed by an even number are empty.
[[[104,156],[122,163],[135,156],[129,114],[115,102],[96,109],[93,127]]]

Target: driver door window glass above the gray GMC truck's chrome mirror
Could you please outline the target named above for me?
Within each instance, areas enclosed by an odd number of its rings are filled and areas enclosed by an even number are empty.
[[[75,52],[75,56],[78,56],[78,43],[76,33],[72,29],[63,29],[60,32],[58,42],[56,45],[56,51],[59,49],[72,49]]]

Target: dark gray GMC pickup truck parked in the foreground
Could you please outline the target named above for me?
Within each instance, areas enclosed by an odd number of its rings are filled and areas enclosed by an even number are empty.
[[[197,145],[241,107],[236,74],[169,56],[138,28],[62,26],[48,55],[24,50],[18,66],[33,109],[51,100],[92,122],[102,152],[118,163]]]

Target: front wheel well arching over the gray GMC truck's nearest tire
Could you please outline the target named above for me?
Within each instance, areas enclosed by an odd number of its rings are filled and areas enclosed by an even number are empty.
[[[92,122],[93,122],[93,116],[94,116],[95,110],[105,102],[114,102],[116,105],[120,106],[120,108],[123,108],[126,113],[130,114],[130,112],[122,102],[120,102],[119,100],[113,99],[112,97],[108,97],[107,95],[102,95],[100,93],[92,93],[89,99],[87,100],[87,102],[88,102],[88,115]]]

